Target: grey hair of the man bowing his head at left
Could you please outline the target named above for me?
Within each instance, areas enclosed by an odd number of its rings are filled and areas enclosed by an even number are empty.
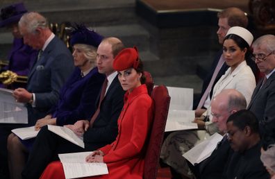
[[[35,33],[36,28],[47,28],[49,23],[38,12],[26,12],[18,22],[19,26],[25,26],[28,33]]]

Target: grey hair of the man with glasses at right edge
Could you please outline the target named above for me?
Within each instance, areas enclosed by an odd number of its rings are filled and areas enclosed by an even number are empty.
[[[268,34],[258,37],[258,39],[253,42],[252,46],[255,48],[263,44],[266,45],[267,51],[275,51],[275,35]]]

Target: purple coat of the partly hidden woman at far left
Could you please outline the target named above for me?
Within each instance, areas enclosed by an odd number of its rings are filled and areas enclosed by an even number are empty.
[[[2,71],[10,70],[19,76],[28,76],[35,58],[38,56],[38,51],[31,46],[24,44],[23,39],[15,38],[13,40],[12,49],[8,53],[8,66],[4,67]],[[5,87],[0,83],[0,87]],[[8,88],[15,89],[17,87],[26,87],[26,83],[13,83]]]

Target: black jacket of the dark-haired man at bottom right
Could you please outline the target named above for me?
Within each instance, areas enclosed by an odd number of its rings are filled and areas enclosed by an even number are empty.
[[[226,167],[226,179],[268,179],[269,173],[260,161],[260,142],[244,153],[233,153]]]

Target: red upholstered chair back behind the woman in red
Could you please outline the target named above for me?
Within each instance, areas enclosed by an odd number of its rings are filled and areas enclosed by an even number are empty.
[[[156,178],[170,103],[170,96],[164,85],[155,87],[151,97],[155,102],[155,116],[153,119],[153,126],[151,128],[147,153],[145,155],[144,179]]]

